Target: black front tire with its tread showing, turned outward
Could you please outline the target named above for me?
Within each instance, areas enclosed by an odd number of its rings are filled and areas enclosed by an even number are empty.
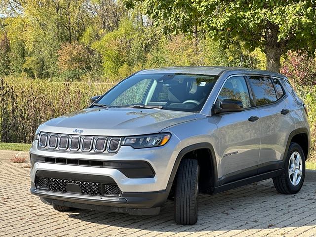
[[[196,159],[181,161],[174,192],[174,220],[177,224],[197,222],[199,165]]]

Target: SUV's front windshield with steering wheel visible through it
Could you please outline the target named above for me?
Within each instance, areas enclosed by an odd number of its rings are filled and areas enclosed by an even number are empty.
[[[99,104],[141,105],[165,110],[200,111],[217,76],[197,74],[135,74],[107,92]]]

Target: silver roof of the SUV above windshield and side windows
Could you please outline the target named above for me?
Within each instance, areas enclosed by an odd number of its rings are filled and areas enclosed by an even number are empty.
[[[209,66],[188,66],[188,67],[164,67],[155,69],[145,69],[139,71],[137,74],[151,74],[151,73],[185,73],[185,74],[205,74],[220,76],[223,72],[231,74],[260,74],[271,77],[278,77],[287,79],[283,74],[270,72],[266,70],[258,70],[251,68],[234,68],[234,67],[209,67]]]

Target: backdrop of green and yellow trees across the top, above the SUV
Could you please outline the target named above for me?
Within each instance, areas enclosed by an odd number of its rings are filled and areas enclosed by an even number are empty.
[[[314,54],[314,13],[311,0],[1,0],[0,74],[117,81],[163,66],[278,71],[288,50]]]

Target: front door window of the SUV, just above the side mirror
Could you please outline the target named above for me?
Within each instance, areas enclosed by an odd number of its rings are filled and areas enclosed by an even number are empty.
[[[248,87],[244,77],[237,76],[229,78],[218,96],[219,101],[224,99],[239,100],[243,104],[243,108],[251,107]]]

